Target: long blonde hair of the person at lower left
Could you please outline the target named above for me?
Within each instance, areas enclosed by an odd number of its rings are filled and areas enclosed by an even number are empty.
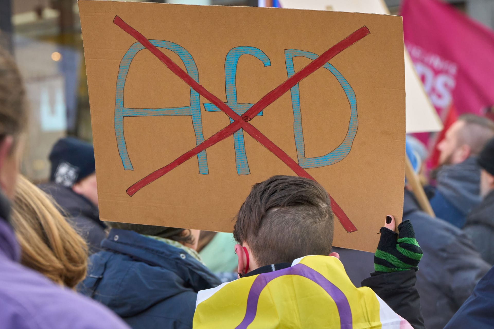
[[[84,279],[86,242],[60,214],[54,200],[23,176],[17,183],[11,223],[23,265],[69,288]]]

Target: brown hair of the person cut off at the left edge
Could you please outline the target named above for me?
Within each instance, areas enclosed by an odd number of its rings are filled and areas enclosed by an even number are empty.
[[[12,57],[0,47],[0,140],[16,138],[27,124],[26,91]]]

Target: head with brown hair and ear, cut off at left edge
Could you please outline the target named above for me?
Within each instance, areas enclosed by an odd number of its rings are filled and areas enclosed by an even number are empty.
[[[14,60],[0,48],[0,187],[14,195],[27,123],[25,90]]]

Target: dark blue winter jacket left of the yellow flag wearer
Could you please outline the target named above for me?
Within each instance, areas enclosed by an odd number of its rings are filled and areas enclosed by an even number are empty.
[[[112,229],[101,247],[78,288],[133,329],[192,328],[197,292],[221,283],[184,250],[133,231]]]

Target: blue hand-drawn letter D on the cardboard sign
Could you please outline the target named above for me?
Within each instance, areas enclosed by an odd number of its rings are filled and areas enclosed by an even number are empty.
[[[297,49],[286,49],[285,50],[285,61],[287,65],[288,78],[295,74],[293,68],[293,58],[297,56],[303,56],[315,60],[318,55],[304,50]],[[348,131],[346,133],[343,142],[329,152],[326,155],[306,158],[305,157],[305,146],[304,146],[304,136],[302,131],[302,113],[300,112],[300,92],[298,88],[298,83],[294,85],[291,89],[291,106],[293,108],[293,133],[295,135],[295,146],[297,149],[298,164],[302,168],[318,168],[332,165],[336,162],[343,160],[352,147],[353,140],[357,133],[358,127],[358,116],[357,116],[357,100],[355,97],[355,92],[348,83],[348,81],[339,73],[334,66],[326,63],[323,66],[329,72],[331,72],[341,87],[345,91],[348,102],[350,103],[350,122],[348,123]]]

